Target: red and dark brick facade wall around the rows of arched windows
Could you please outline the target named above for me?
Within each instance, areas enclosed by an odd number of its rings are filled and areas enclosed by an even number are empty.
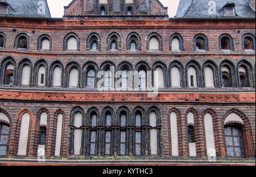
[[[70,158],[77,157],[69,151],[73,129],[71,124],[73,117],[71,115],[74,108],[79,107],[79,109],[82,109],[82,112],[85,112],[85,117],[87,117],[89,116],[90,108],[97,108],[98,113],[101,114],[105,108],[111,108],[114,113],[117,113],[118,108],[125,106],[129,109],[131,117],[134,116],[135,109],[140,108],[143,110],[145,120],[149,119],[150,112],[148,111],[152,108],[158,110],[159,125],[156,129],[160,132],[158,134],[160,141],[157,157],[163,159],[172,158],[171,112],[175,112],[177,115],[179,156],[189,157],[187,113],[192,112],[195,119],[197,157],[207,157],[204,129],[205,114],[209,113],[213,117],[216,155],[217,157],[225,158],[227,153],[224,127],[226,124],[231,125],[239,122],[224,123],[224,120],[230,113],[236,113],[243,121],[241,127],[243,130],[245,157],[255,158],[255,19],[156,20],[151,19],[151,16],[144,16],[143,19],[139,20],[110,20],[100,16],[97,19],[90,19],[90,16],[84,16],[82,19],[71,18],[73,14],[83,14],[82,8],[84,6],[82,6],[81,2],[86,2],[85,9],[92,7],[87,1],[73,1],[69,7],[65,7],[64,15],[67,16],[63,19],[0,19],[0,32],[6,36],[5,47],[0,47],[0,113],[5,114],[10,120],[10,123],[5,122],[10,127],[7,157],[15,157],[18,153],[19,130],[24,113],[30,115],[27,144],[28,157],[36,157],[37,155],[40,115],[46,112],[48,115],[46,157],[55,155],[57,116],[61,113],[63,115],[63,125],[60,156]],[[158,1],[150,2],[151,15],[164,15],[166,13],[166,9]],[[89,13],[89,10],[87,12]],[[75,33],[79,38],[77,51],[64,49],[65,36],[71,32]],[[119,50],[108,50],[108,36],[112,32],[120,36],[121,47]],[[141,50],[127,50],[127,36],[132,32],[141,37]],[[147,49],[148,36],[152,32],[161,37],[159,44],[162,47],[162,51]],[[27,49],[15,48],[16,36],[21,33],[29,37]],[[100,36],[100,51],[88,50],[87,40],[91,33],[97,33]],[[179,52],[170,50],[170,37],[175,33],[178,33],[183,38],[184,49]],[[227,33],[233,39],[234,50],[231,52],[223,52],[219,47],[220,35]],[[197,34],[203,34],[207,37],[209,50],[204,52],[194,50],[193,40]],[[42,35],[51,37],[51,50],[38,49],[39,39]],[[254,37],[253,52],[243,50],[243,36],[245,35]],[[14,86],[3,84],[5,78],[4,67],[9,61],[15,68]],[[61,69],[63,69],[60,88],[51,87],[52,66],[55,62],[62,65]],[[216,86],[214,88],[204,87],[204,66],[208,62],[216,66],[216,76],[214,77]],[[115,71],[118,71],[124,63],[131,66],[132,70],[136,70],[141,64],[148,67],[148,70],[153,70],[156,66],[162,66],[165,75],[165,87],[161,88],[155,97],[150,97],[147,92],[143,91],[99,92],[96,88],[89,89],[84,85],[86,66],[90,63],[93,63],[98,71],[103,69],[105,64],[113,65]],[[232,88],[221,86],[220,68],[226,63],[230,63],[234,70]],[[19,75],[21,75],[21,69],[19,66],[21,67],[22,64],[31,65],[30,86],[20,86]],[[46,87],[38,87],[35,84],[37,81],[36,67],[40,64],[44,64],[47,68]],[[184,70],[183,87],[181,88],[171,88],[170,69],[173,64],[180,64]],[[188,78],[185,71],[187,71],[188,65],[191,64],[198,67],[198,88],[187,87]],[[248,66],[250,69],[248,70],[249,87],[240,87],[238,79],[238,66],[240,64]],[[77,88],[68,88],[69,66],[76,66],[79,70],[79,86]],[[128,117],[128,119],[131,119],[131,117]],[[4,121],[0,123],[4,123]],[[113,126],[111,129],[118,129],[118,125]],[[141,128],[142,132],[151,129],[147,126],[149,125],[145,125],[146,128]],[[81,129],[90,128],[84,124]],[[96,129],[104,128],[98,127]],[[146,152],[147,148],[150,149],[146,145],[145,147],[143,146],[143,152]],[[86,157],[86,155],[83,155],[78,155],[78,157]]]

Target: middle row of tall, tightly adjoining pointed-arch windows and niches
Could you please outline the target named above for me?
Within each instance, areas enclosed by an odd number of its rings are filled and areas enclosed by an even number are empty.
[[[100,79],[102,87],[115,87],[115,82],[121,80],[120,88],[147,88],[164,87],[254,87],[253,66],[246,60],[233,62],[224,60],[220,66],[207,61],[201,68],[200,64],[192,60],[185,66],[174,61],[169,70],[163,62],[156,62],[152,69],[146,62],[139,62],[135,66],[123,62],[118,66],[119,77],[113,62],[101,65],[101,73],[94,62],[86,62],[82,71],[79,64],[71,62],[64,70],[61,62],[53,62],[48,69],[44,60],[39,60],[34,69],[32,63],[24,59],[16,68],[13,58],[6,58],[1,65],[1,84],[16,86],[43,86],[43,87],[80,87],[96,88]],[[219,69],[218,69],[219,68]],[[32,71],[33,69],[33,71]],[[131,72],[130,72],[131,71]],[[137,71],[137,72],[135,72]],[[151,71],[151,73],[149,72]],[[100,75],[98,75],[100,74]],[[135,79],[138,78],[138,79]]]

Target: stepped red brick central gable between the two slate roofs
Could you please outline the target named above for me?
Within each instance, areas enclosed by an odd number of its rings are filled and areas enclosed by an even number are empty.
[[[64,7],[64,17],[72,16],[168,16],[158,0],[73,0]]]

